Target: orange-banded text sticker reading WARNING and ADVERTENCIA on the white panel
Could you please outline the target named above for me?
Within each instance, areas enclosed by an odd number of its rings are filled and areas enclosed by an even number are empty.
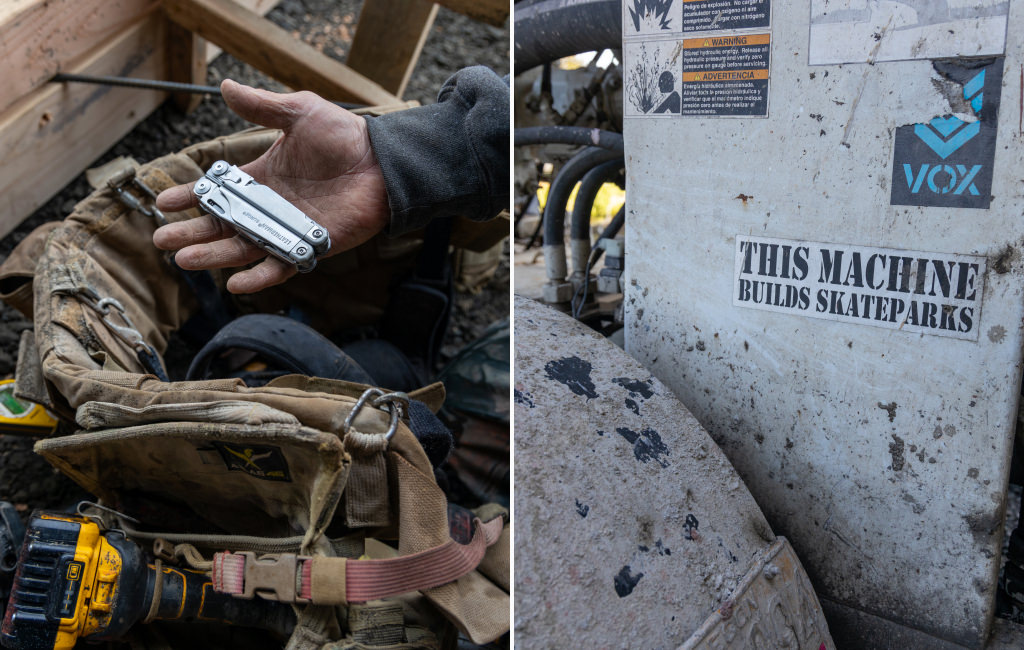
[[[682,115],[768,116],[770,34],[683,41]]]

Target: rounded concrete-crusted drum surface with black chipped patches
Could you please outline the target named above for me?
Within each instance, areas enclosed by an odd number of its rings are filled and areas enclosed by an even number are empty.
[[[517,297],[515,314],[516,645],[677,647],[774,535],[639,363],[541,303]]]

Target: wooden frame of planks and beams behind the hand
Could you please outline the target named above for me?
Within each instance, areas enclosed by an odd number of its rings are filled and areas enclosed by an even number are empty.
[[[0,93],[0,236],[167,98],[152,90],[49,83],[57,72],[205,84],[206,63],[219,46],[293,88],[398,104],[437,4],[492,25],[509,13],[507,0],[367,0],[345,66],[261,17],[278,1],[0,2],[0,60],[12,73]],[[199,98],[175,101],[188,111]]]

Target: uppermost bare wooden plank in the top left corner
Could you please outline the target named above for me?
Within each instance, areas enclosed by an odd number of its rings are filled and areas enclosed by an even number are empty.
[[[0,15],[0,111],[68,72],[158,6],[158,0],[22,0]]]

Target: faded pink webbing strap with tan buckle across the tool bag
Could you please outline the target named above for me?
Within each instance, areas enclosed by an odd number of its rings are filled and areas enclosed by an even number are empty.
[[[317,562],[344,562],[345,602],[367,601],[397,596],[408,592],[418,592],[453,582],[466,575],[480,564],[487,547],[494,545],[502,534],[505,522],[497,517],[487,523],[478,518],[473,520],[473,538],[468,545],[455,539],[412,555],[383,560],[342,560],[340,558],[296,558],[299,571],[298,597],[316,604],[339,605],[342,603],[321,602],[312,593],[312,564]],[[273,556],[270,556],[273,557]],[[294,556],[292,556],[294,558]],[[260,561],[270,559],[267,556]],[[222,594],[241,596],[246,587],[259,591],[261,586],[246,586],[247,558],[229,552],[213,556],[213,589]],[[279,594],[279,596],[281,596]],[[293,594],[294,597],[294,594]]]

